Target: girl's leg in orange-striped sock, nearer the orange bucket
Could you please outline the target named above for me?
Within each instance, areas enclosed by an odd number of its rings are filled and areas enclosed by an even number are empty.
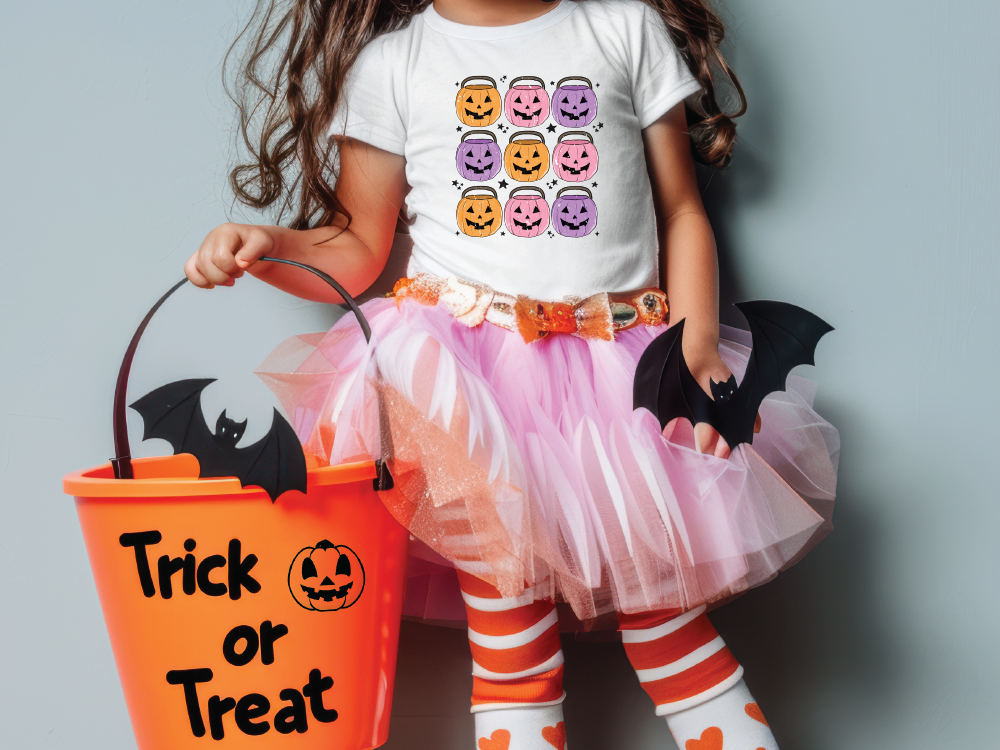
[[[551,601],[517,599],[459,571],[472,649],[477,750],[565,750],[563,654]]]

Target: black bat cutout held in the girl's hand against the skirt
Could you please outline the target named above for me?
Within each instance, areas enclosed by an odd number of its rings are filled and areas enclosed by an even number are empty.
[[[743,382],[712,383],[712,398],[688,369],[681,351],[684,321],[653,340],[639,358],[632,406],[649,409],[660,427],[683,417],[692,425],[707,422],[735,448],[753,442],[757,410],[767,394],[785,389],[796,365],[811,365],[816,344],[833,330],[808,310],[787,302],[741,302],[736,305],[750,324],[753,349]],[[713,400],[714,398],[714,400]]]

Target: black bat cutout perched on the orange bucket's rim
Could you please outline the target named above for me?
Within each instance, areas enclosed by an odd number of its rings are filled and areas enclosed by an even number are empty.
[[[253,445],[237,448],[246,420],[236,422],[223,411],[215,433],[201,410],[201,392],[214,379],[178,380],[147,393],[132,404],[142,417],[142,439],[162,438],[174,453],[198,459],[203,477],[236,477],[244,487],[256,485],[271,502],[286,490],[306,491],[306,459],[302,445],[284,417],[274,411],[271,429]]]

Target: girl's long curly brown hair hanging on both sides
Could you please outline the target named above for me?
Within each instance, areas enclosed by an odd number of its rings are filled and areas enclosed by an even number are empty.
[[[722,21],[705,0],[642,1],[663,19],[702,86],[687,102],[694,157],[725,168],[736,140],[733,120],[746,111],[746,97],[719,49]],[[327,226],[338,214],[350,218],[337,200],[334,144],[326,129],[365,45],[403,28],[431,2],[258,0],[223,65],[248,157],[229,176],[240,202],[276,209],[278,221],[293,215],[292,229]],[[735,111],[721,108],[720,83],[731,86]]]

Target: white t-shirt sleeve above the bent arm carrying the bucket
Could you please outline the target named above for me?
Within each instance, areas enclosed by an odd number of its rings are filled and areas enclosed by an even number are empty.
[[[402,155],[406,143],[406,87],[401,67],[383,40],[369,44],[347,75],[330,123],[330,137],[347,136]]]

